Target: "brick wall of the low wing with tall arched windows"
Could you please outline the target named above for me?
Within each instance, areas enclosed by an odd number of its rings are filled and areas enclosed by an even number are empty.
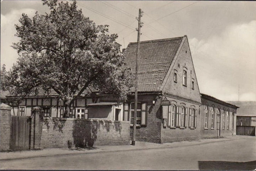
[[[208,106],[208,128],[205,128],[205,106]],[[212,114],[210,107],[214,108],[214,128],[211,128]],[[217,136],[217,109],[220,110],[220,136],[230,136],[236,134],[236,109],[220,104],[217,102],[210,101],[208,99],[202,98],[201,107],[201,135],[202,137],[216,137]],[[223,129],[222,112],[225,111],[225,129]],[[227,116],[226,111],[229,111],[229,129],[227,128]],[[234,113],[234,128],[232,129],[232,114]]]

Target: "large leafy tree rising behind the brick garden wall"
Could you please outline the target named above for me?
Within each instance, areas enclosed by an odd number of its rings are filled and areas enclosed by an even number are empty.
[[[22,14],[13,43],[20,57],[3,75],[2,88],[24,98],[39,89],[54,90],[63,100],[65,114],[88,87],[90,93],[111,93],[126,100],[133,79],[124,67],[117,34],[96,25],[72,3],[43,0],[50,12],[29,18]],[[89,95],[89,94],[88,94]]]

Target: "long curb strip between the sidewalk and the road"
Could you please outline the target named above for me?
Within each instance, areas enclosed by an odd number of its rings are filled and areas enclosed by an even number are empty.
[[[219,141],[209,141],[204,143],[197,143],[197,144],[188,144],[188,145],[176,145],[176,146],[162,146],[162,147],[153,147],[153,148],[134,148],[134,149],[124,149],[124,150],[105,150],[105,151],[95,151],[95,152],[81,152],[81,153],[63,153],[63,154],[52,154],[52,155],[35,155],[35,156],[28,156],[28,157],[16,157],[16,158],[7,158],[7,159],[0,159],[0,161],[10,161],[10,160],[21,160],[21,159],[31,159],[31,158],[38,158],[38,157],[53,157],[53,156],[62,156],[62,155],[78,155],[78,154],[90,154],[90,153],[109,153],[109,152],[120,152],[120,151],[134,151],[134,150],[149,150],[149,149],[171,149],[171,148],[178,148],[178,147],[187,147],[187,146],[196,146],[202,144],[210,144],[216,142],[223,142],[223,141],[232,141],[236,139],[227,139],[227,140],[219,140]]]

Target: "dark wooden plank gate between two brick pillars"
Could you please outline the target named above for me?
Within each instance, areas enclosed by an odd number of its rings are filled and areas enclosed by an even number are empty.
[[[11,150],[30,149],[31,117],[11,116]]]

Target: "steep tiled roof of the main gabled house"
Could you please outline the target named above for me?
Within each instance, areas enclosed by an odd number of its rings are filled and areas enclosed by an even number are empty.
[[[142,41],[139,46],[138,92],[158,92],[183,37]],[[137,42],[129,43],[124,62],[135,73]],[[134,89],[132,89],[134,91]]]

